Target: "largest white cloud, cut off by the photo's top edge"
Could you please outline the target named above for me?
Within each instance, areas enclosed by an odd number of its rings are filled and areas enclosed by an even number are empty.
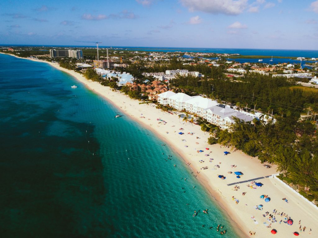
[[[212,14],[238,15],[245,10],[248,0],[180,0],[190,11],[203,11]]]

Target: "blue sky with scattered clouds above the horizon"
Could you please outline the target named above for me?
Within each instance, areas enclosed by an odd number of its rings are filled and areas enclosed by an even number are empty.
[[[318,50],[318,0],[0,2],[0,43],[88,45],[76,41]]]

